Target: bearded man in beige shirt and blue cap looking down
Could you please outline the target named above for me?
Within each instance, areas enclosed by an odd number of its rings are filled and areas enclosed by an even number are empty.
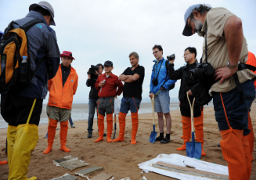
[[[213,68],[213,77],[219,80],[211,85],[210,92],[229,179],[250,179],[248,111],[255,96],[253,80],[256,74],[243,66],[247,62],[248,49],[242,21],[225,8],[211,9],[211,6],[200,4],[190,6],[184,19],[186,25],[182,34],[191,36],[197,32],[204,37],[203,63],[207,59],[204,65]]]

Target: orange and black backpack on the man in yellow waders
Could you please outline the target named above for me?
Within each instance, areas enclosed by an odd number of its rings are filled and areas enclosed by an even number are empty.
[[[34,71],[31,70],[26,35],[26,31],[37,23],[43,22],[31,20],[20,27],[18,23],[12,21],[6,28],[7,33],[0,40],[0,93],[20,92],[27,87],[38,70],[41,62]],[[14,28],[13,24],[19,28]],[[27,62],[23,60],[23,56],[27,56]]]

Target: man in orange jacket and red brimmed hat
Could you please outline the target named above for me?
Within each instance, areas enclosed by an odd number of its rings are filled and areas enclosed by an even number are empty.
[[[48,81],[49,102],[47,104],[48,126],[48,146],[43,153],[50,153],[53,140],[56,134],[57,123],[60,122],[60,150],[70,152],[66,147],[68,118],[71,114],[73,95],[78,88],[78,74],[70,66],[74,57],[72,52],[63,51],[60,54],[61,64],[54,78]]]

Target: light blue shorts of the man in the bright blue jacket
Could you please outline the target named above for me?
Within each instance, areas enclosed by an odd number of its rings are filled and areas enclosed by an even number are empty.
[[[154,108],[156,113],[170,112],[170,95],[169,90],[160,90],[158,95],[155,95]]]

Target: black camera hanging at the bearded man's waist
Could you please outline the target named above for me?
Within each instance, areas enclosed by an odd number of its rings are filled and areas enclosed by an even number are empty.
[[[215,74],[215,70],[211,63],[200,63],[196,69],[189,70],[189,76],[192,80],[211,79]]]

